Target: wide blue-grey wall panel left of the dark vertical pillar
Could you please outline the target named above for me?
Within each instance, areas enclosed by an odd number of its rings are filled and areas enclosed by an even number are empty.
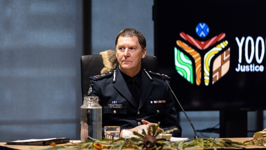
[[[79,138],[82,1],[0,1],[0,142]]]

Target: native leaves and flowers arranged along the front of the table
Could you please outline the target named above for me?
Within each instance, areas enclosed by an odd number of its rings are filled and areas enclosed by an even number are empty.
[[[150,126],[148,129],[148,133],[144,130],[142,134],[134,132],[134,135],[138,137],[132,137],[130,139],[119,138],[116,140],[110,139],[92,139],[86,140],[78,144],[71,144],[71,145],[64,145],[64,146],[56,146],[50,145],[47,146],[46,149],[125,149],[125,148],[132,148],[132,149],[144,149],[144,150],[183,150],[188,148],[202,148],[203,150],[206,148],[211,148],[216,150],[217,148],[223,147],[235,147],[238,145],[245,145],[240,142],[234,142],[229,139],[216,139],[216,138],[206,138],[206,139],[189,139],[185,141],[179,142],[172,142],[166,139],[158,138],[158,135],[162,131],[157,131],[158,127],[160,126],[160,122],[158,125]],[[164,131],[165,133],[170,133],[173,130]],[[36,149],[36,148],[35,148]],[[44,148],[42,148],[44,149]]]

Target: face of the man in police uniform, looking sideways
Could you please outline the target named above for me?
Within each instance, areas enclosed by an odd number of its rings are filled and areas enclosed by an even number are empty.
[[[120,70],[129,76],[137,74],[141,67],[141,59],[146,56],[146,48],[141,50],[138,38],[119,37],[115,49]]]

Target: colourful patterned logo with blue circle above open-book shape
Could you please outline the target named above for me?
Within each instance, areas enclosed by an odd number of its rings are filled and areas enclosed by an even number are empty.
[[[209,27],[199,23],[196,33],[200,38],[209,34]],[[181,40],[177,40],[174,47],[175,68],[179,75],[189,83],[208,86],[221,79],[229,70],[230,47],[224,40],[225,33],[220,33],[207,41],[200,41],[186,34],[180,33]],[[203,76],[203,78],[202,78]]]

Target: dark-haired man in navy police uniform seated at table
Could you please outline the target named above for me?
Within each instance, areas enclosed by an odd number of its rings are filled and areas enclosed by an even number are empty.
[[[143,34],[132,28],[121,30],[115,49],[119,66],[113,72],[90,77],[88,96],[99,97],[103,107],[102,126],[120,126],[122,137],[125,130],[137,132],[141,124],[148,129],[160,122],[158,130],[177,128],[172,135],[181,137],[169,87],[162,75],[141,68],[146,56]]]

